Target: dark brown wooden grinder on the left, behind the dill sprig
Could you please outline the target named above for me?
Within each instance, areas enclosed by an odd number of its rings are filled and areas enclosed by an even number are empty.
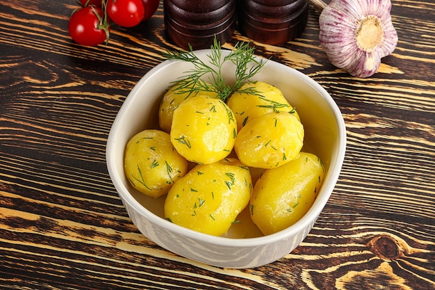
[[[163,0],[165,30],[183,49],[224,44],[236,29],[236,0]]]

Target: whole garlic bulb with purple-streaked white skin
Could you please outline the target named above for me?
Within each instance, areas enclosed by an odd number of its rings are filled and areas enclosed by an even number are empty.
[[[332,0],[320,13],[320,45],[329,61],[352,76],[377,72],[397,45],[390,0]]]

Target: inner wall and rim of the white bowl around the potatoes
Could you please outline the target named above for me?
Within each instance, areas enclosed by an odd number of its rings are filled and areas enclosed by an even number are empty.
[[[196,51],[195,54],[205,60],[209,50]],[[232,64],[228,63],[224,67],[224,76],[229,83],[234,80],[234,68],[231,66]],[[140,212],[147,215],[151,212],[150,218],[164,219],[165,197],[149,198],[130,186],[124,175],[124,147],[139,131],[159,129],[158,107],[161,98],[170,82],[177,81],[177,78],[189,69],[188,63],[165,61],[145,74],[120,108],[108,137],[108,170],[120,197],[123,202],[129,202]],[[253,80],[265,81],[277,86],[290,104],[295,106],[305,129],[303,150],[316,154],[324,163],[325,180],[318,198],[309,213],[298,222],[312,224],[329,199],[343,163],[345,152],[343,118],[334,100],[318,83],[290,67],[268,61]],[[226,238],[261,236],[246,213],[241,214],[240,218],[246,221],[244,226],[231,228]],[[172,226],[172,224],[168,225],[168,227]]]

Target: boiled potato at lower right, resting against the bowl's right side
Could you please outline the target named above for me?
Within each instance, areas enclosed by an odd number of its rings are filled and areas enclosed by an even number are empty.
[[[261,232],[279,232],[302,218],[320,190],[324,173],[320,159],[306,152],[284,166],[265,170],[249,205],[251,218]]]

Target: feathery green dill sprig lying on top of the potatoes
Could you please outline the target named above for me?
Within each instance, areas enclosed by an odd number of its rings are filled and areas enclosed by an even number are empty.
[[[189,95],[196,95],[199,91],[216,92],[217,97],[225,102],[265,65],[265,61],[258,61],[254,56],[255,48],[246,42],[237,42],[227,56],[222,56],[222,47],[216,38],[210,48],[211,53],[207,55],[207,62],[199,59],[191,46],[188,51],[167,51],[163,54],[167,59],[186,61],[193,65],[184,76],[173,82],[173,86],[177,86],[174,92],[188,92]],[[227,61],[236,65],[236,81],[232,86],[226,83],[222,76],[222,67]],[[256,93],[254,88],[247,88],[243,92]]]

